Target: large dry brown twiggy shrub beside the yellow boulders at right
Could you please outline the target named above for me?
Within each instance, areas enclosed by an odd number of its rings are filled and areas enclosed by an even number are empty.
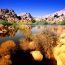
[[[33,35],[33,40],[36,42],[37,50],[40,50],[45,54],[47,58],[53,56],[52,49],[56,46],[57,35],[46,29],[35,35]]]

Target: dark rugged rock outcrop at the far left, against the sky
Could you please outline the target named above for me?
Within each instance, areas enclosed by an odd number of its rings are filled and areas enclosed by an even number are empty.
[[[14,10],[0,9],[0,20],[18,21],[18,16]]]

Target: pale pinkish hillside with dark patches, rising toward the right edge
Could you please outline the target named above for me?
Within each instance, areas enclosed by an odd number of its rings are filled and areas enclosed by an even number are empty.
[[[46,21],[49,24],[65,24],[65,9],[59,10],[41,18],[35,18],[37,21]]]

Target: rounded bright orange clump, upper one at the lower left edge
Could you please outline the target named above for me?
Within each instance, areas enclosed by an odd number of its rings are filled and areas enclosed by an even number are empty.
[[[0,45],[0,54],[8,54],[10,50],[13,50],[15,48],[16,44],[12,40],[8,40],[3,42]]]

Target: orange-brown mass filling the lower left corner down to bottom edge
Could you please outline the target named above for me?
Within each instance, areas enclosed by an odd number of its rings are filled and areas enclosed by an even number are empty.
[[[12,63],[10,60],[10,53],[15,46],[16,44],[12,40],[3,42],[0,45],[0,65],[10,65]]]

